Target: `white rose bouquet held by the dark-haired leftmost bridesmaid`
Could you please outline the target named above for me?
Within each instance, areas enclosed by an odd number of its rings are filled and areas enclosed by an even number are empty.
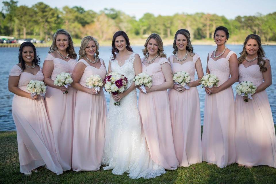
[[[44,96],[46,93],[46,85],[43,81],[30,80],[27,85],[27,91],[31,93],[31,96],[40,95]]]

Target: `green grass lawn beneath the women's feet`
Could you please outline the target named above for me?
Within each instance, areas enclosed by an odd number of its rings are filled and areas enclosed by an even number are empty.
[[[17,140],[15,131],[0,132],[0,183],[276,183],[276,168],[256,166],[240,168],[232,164],[226,168],[207,165],[206,162],[180,167],[154,179],[129,179],[127,174],[113,175],[110,170],[101,168],[99,171],[73,172],[65,171],[62,175],[55,175],[41,167],[38,173],[27,177],[20,173]]]

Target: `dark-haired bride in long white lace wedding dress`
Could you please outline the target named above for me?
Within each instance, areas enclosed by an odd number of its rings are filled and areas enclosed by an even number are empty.
[[[115,175],[129,173],[128,176],[132,179],[155,178],[166,171],[152,161],[141,129],[137,93],[133,83],[135,75],[142,72],[141,59],[138,54],[133,53],[124,31],[114,34],[112,54],[108,73],[118,72],[127,77],[128,89],[110,98],[102,160],[102,164],[106,165],[104,170],[113,169],[112,173]],[[114,101],[120,101],[120,106],[115,106]]]

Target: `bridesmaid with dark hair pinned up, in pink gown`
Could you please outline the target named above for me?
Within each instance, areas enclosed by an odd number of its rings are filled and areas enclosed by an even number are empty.
[[[232,85],[238,79],[237,55],[225,46],[227,28],[214,32],[216,50],[207,57],[207,73],[218,77],[218,87],[205,88],[202,134],[203,161],[223,168],[235,162],[235,106]],[[230,77],[231,75],[231,77]]]

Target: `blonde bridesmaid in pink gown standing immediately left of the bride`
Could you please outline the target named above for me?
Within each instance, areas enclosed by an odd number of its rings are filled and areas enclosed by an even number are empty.
[[[85,86],[86,78],[92,74],[98,74],[104,81],[106,66],[99,58],[99,43],[87,36],[81,41],[79,61],[72,74],[72,87],[78,90],[72,151],[74,171],[99,170],[103,157],[106,99],[102,87],[97,92]]]

